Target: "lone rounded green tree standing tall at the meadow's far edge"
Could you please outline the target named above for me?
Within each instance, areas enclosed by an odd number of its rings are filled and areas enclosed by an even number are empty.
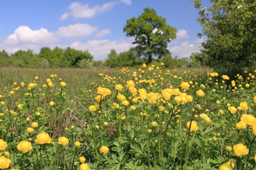
[[[154,9],[145,8],[139,17],[131,17],[123,28],[126,36],[134,37],[133,44],[139,56],[152,62],[155,56],[169,54],[168,42],[176,38],[177,30],[166,24],[164,17],[158,16]]]

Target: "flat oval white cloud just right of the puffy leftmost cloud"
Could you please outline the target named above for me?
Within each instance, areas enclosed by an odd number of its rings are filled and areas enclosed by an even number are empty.
[[[90,26],[89,24],[73,24],[59,28],[57,36],[68,38],[90,36],[97,30],[97,27]]]

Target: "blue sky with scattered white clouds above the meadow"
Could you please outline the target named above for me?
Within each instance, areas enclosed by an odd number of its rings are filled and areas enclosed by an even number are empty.
[[[177,29],[177,39],[168,44],[172,57],[189,57],[203,42],[197,37],[201,26],[191,0],[1,0],[0,7],[0,50],[9,54],[70,46],[104,60],[111,49],[122,52],[133,46],[123,27],[145,7]]]

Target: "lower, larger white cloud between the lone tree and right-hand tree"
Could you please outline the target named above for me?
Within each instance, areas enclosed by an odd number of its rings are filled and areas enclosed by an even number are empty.
[[[169,50],[172,53],[172,56],[188,58],[192,52],[197,52],[201,49],[202,42],[203,39],[198,39],[195,42],[189,42],[186,40],[177,46],[169,46]]]

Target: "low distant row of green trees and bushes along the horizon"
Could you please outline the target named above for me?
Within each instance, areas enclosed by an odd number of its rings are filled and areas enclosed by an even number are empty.
[[[18,50],[8,54],[0,50],[0,67],[136,67],[147,62],[146,58],[139,58],[134,50],[118,53],[111,50],[106,60],[93,60],[92,54],[88,51],[75,50],[73,48],[59,48],[53,50],[42,47],[38,54],[32,50]],[[153,65],[160,65],[168,68],[175,67],[199,67],[200,63],[195,58],[178,59],[170,55],[152,61]]]

